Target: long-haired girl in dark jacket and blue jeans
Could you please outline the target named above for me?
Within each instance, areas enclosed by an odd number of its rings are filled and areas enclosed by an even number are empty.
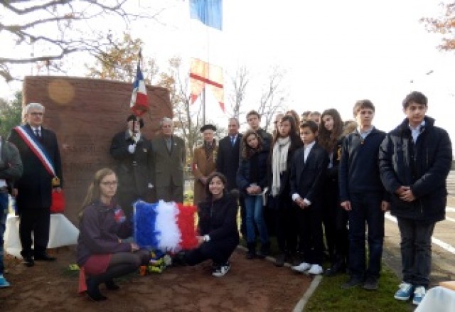
[[[247,224],[247,259],[256,257],[256,227],[261,240],[259,258],[269,254],[270,241],[264,220],[262,192],[267,186],[268,151],[262,149],[262,139],[254,130],[242,136],[240,166],[237,170],[237,186],[245,195]]]

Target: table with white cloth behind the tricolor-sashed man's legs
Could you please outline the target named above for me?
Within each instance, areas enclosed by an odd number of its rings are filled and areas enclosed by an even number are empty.
[[[6,217],[4,235],[5,252],[21,258],[21,240],[19,239],[19,217],[9,214]],[[77,244],[79,230],[61,213],[50,215],[48,248],[58,248]]]

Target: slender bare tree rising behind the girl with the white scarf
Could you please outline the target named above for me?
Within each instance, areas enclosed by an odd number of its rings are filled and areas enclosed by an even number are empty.
[[[265,120],[264,129],[269,128],[275,112],[284,106],[284,89],[281,85],[284,75],[284,70],[274,66],[262,90],[257,112]]]

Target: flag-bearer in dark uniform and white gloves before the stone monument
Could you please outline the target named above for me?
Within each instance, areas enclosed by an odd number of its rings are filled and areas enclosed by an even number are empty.
[[[119,204],[130,217],[133,203],[146,200],[153,188],[151,179],[151,143],[141,129],[144,121],[133,114],[127,118],[127,129],[114,136],[110,154],[117,161]]]

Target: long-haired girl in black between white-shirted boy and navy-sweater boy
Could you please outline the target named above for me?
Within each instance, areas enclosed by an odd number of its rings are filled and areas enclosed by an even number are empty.
[[[348,215],[341,209],[338,188],[338,164],[343,142],[343,121],[334,108],[321,115],[318,143],[328,152],[329,162],[323,186],[322,219],[331,267],[326,275],[333,276],[346,269],[348,257]]]

